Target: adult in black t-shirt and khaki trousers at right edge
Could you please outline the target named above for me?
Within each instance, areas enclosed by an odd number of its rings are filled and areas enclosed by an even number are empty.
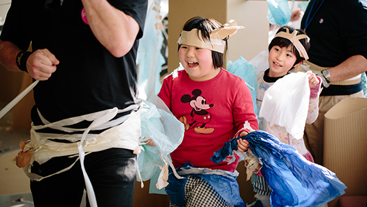
[[[363,97],[367,71],[367,5],[358,0],[311,0],[301,22],[310,37],[310,69],[323,79],[319,117],[306,124],[305,141],[323,164],[324,115],[346,97]]]

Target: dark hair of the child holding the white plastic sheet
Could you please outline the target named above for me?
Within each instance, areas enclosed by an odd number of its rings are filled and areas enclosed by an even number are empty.
[[[289,33],[292,33],[294,30],[296,30],[296,31],[298,31],[297,35],[306,34],[306,32],[301,30],[301,29],[294,29],[294,28],[289,27],[289,26],[283,26],[283,27],[279,28],[279,30],[276,32],[276,34],[278,34],[279,32],[287,32],[286,28],[289,30]],[[307,38],[299,39],[299,41],[301,42],[301,44],[303,45],[303,47],[305,48],[305,50],[307,52],[310,49],[310,41],[308,41]],[[284,37],[275,37],[273,40],[271,40],[271,42],[269,44],[269,51],[274,46],[280,46],[280,48],[283,48],[283,47],[287,48],[291,44],[292,44],[292,41],[290,41],[289,39],[286,39]],[[305,58],[301,57],[300,52],[298,52],[298,50],[296,49],[295,46],[292,47],[292,53],[294,55],[296,55],[296,58],[297,58],[294,65],[296,65],[298,63],[301,63],[301,61],[305,60]]]

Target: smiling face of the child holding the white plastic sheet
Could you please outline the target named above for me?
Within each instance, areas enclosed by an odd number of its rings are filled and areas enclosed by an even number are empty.
[[[293,54],[292,47],[289,45],[283,48],[280,46],[271,48],[269,51],[269,77],[282,77],[294,67],[297,57]]]

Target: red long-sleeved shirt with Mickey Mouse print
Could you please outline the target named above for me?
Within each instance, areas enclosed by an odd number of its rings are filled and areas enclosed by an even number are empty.
[[[238,159],[214,164],[210,160],[213,153],[242,132],[245,121],[258,130],[251,92],[244,80],[217,70],[220,73],[208,81],[193,81],[185,70],[174,70],[163,81],[158,96],[185,125],[181,145],[170,154],[175,168],[190,161],[196,168],[233,172]]]

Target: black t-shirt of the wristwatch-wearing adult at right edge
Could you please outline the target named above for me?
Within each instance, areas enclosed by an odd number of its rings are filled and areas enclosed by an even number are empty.
[[[366,20],[367,8],[358,0],[311,0],[301,21],[301,28],[310,37],[309,61],[331,68],[353,55],[367,59]],[[350,95],[361,89],[361,83],[331,85],[323,88],[321,96]]]

